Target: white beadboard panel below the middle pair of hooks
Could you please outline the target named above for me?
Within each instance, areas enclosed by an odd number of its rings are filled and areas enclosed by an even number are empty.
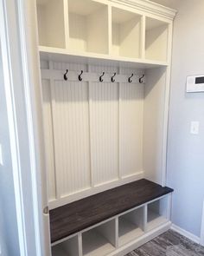
[[[118,179],[118,84],[90,82],[94,186]]]

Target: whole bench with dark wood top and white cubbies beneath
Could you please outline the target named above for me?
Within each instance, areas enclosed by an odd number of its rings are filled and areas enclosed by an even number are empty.
[[[52,209],[53,256],[131,252],[169,229],[172,192],[142,179]]]

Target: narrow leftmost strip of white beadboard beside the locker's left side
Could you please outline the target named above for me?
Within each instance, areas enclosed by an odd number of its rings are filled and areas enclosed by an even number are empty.
[[[53,123],[51,108],[50,82],[42,79],[42,108],[44,118],[44,136],[46,151],[46,167],[48,174],[48,197],[49,200],[55,200],[55,167],[54,167],[54,140],[53,140]]]

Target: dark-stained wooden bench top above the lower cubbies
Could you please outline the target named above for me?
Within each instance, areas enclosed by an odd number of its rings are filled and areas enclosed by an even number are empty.
[[[134,181],[51,210],[51,242],[173,192],[147,180]]]

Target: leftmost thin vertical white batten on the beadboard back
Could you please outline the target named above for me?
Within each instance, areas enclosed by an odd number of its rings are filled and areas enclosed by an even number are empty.
[[[49,69],[53,69],[53,62],[49,61]],[[60,175],[57,175],[57,167],[56,167],[56,157],[55,157],[55,147],[56,147],[56,125],[54,124],[54,111],[55,111],[55,97],[54,97],[54,79],[50,77],[50,93],[51,93],[51,109],[52,109],[52,126],[53,126],[53,138],[54,138],[54,177],[55,177],[55,197],[56,200],[61,199],[61,181]]]

